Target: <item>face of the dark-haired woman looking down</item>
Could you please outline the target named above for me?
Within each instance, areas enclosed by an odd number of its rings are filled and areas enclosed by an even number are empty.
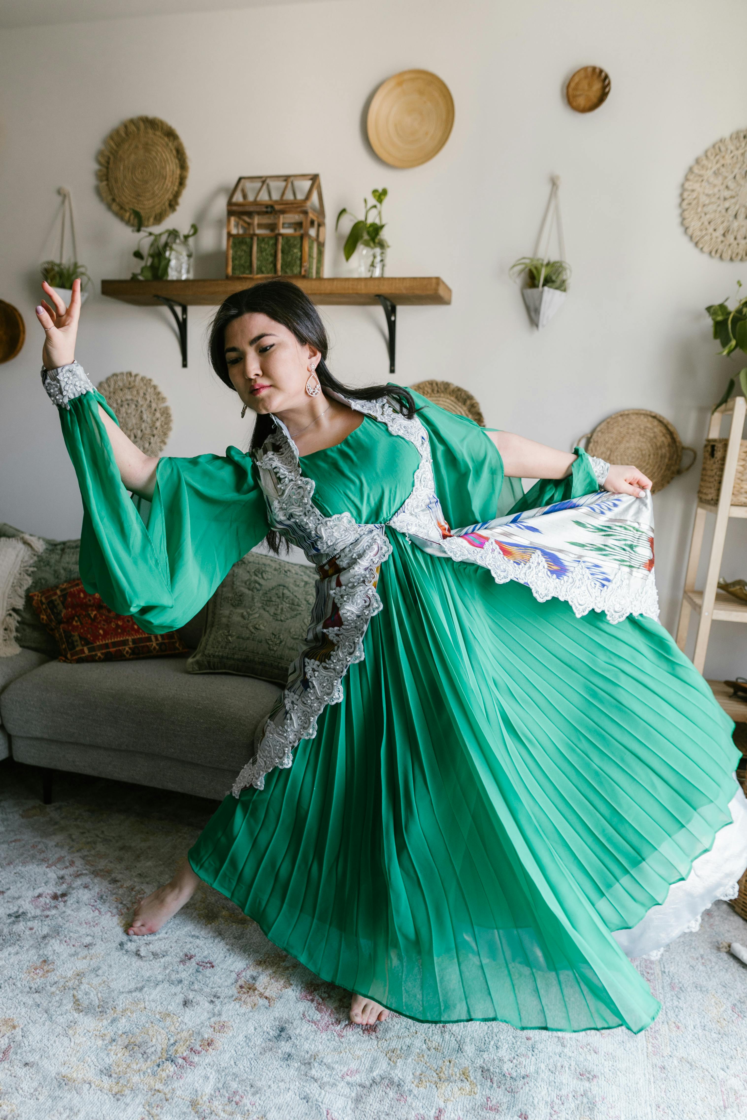
[[[231,383],[254,412],[284,412],[308,401],[306,382],[319,351],[280,323],[256,311],[242,315],[225,328],[224,346]]]

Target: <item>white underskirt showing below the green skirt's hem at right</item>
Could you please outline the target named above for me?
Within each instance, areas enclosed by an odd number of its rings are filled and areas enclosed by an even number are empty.
[[[737,897],[737,880],[747,867],[747,799],[737,786],[729,802],[731,824],[716,833],[713,847],[692,865],[687,879],[673,883],[666,898],[631,930],[617,930],[613,937],[626,956],[661,956],[681,933],[700,926],[703,911],[718,898]]]

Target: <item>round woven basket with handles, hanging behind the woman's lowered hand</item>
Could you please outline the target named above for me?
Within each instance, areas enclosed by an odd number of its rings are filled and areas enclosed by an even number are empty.
[[[659,412],[648,409],[625,409],[598,423],[587,437],[587,451],[607,463],[624,463],[643,470],[651,478],[652,494],[664,489],[675,475],[684,474],[695,461],[697,451],[683,447],[673,423]],[[692,459],[682,467],[682,452],[691,451]]]

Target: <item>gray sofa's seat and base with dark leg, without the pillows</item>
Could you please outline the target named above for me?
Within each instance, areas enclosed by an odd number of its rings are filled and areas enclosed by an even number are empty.
[[[197,622],[179,632],[190,648]],[[41,767],[47,804],[54,771],[222,799],[280,688],[187,673],[186,660],[67,664],[32,650],[0,657],[0,758]]]

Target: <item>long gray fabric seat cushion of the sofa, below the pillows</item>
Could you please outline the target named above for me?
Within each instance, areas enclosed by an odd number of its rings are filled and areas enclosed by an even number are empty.
[[[280,690],[269,681],[195,676],[185,657],[50,661],[0,694],[10,732],[139,750],[236,773]]]

